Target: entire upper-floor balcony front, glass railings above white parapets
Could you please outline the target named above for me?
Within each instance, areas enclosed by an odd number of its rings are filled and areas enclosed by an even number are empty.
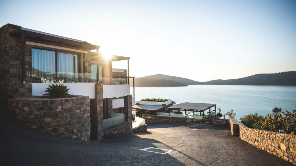
[[[134,78],[134,77],[132,77]],[[19,78],[17,78],[19,79]],[[32,83],[32,95],[43,95],[51,84],[63,84],[69,88],[71,95],[85,95],[95,98],[95,84],[103,83],[103,98],[130,95],[128,77],[104,77],[97,79],[96,73],[74,73],[26,70],[26,83]]]

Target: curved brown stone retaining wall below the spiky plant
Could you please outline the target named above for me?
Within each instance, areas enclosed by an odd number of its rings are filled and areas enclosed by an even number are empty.
[[[20,121],[46,133],[90,141],[88,96],[60,99],[9,99],[9,110]]]

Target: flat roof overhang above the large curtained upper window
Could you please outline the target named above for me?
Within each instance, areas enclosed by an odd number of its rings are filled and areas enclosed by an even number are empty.
[[[31,29],[27,29],[27,28],[23,28],[23,27],[21,29],[16,29],[16,30],[9,32],[10,36],[19,36],[20,37],[22,34],[25,34],[25,38],[40,40],[40,41],[44,41],[44,42],[59,43],[59,44],[73,46],[73,47],[81,47],[81,48],[89,49],[89,50],[94,50],[94,49],[100,48],[100,46],[90,44],[86,41],[66,38],[63,36],[53,35],[50,33],[31,30]]]

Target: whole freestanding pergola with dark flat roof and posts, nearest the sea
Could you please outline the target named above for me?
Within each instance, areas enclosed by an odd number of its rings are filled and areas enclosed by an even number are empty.
[[[187,111],[193,111],[194,112],[199,112],[204,115],[204,111],[209,109],[211,110],[212,107],[215,107],[215,113],[216,113],[216,104],[205,104],[205,103],[195,103],[195,102],[184,102],[181,104],[176,104],[173,106],[170,106],[168,108],[169,111],[172,110],[177,110],[177,111],[185,111],[185,114],[187,114]],[[201,115],[201,114],[200,114]]]

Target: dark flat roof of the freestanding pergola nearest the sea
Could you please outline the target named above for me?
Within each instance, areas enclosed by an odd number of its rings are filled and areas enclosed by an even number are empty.
[[[209,108],[216,106],[216,104],[205,104],[205,103],[195,103],[195,102],[184,102],[181,104],[176,104],[170,106],[168,109],[184,109],[184,110],[200,110],[204,111]]]

